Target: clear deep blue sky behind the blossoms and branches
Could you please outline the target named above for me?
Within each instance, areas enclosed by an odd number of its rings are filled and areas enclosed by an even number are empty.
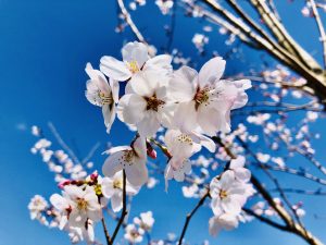
[[[318,53],[318,42],[311,38],[317,33],[314,23],[300,16],[300,5],[288,11],[285,8],[288,7],[287,1],[278,0],[277,3],[285,23],[296,19],[296,23],[289,26],[291,34],[298,36],[309,51]],[[162,27],[168,17],[156,20],[153,19],[155,14],[159,10],[154,5],[141,9],[137,22],[151,38],[150,41],[162,45],[165,44],[165,35],[156,27]],[[97,142],[110,140],[115,145],[129,142],[131,134],[121,123],[114,124],[110,136],[105,134],[100,111],[84,97],[86,62],[98,65],[103,54],[120,57],[123,41],[134,38],[128,32],[124,35],[114,33],[116,20],[116,7],[112,0],[0,0],[0,245],[70,244],[66,234],[29,220],[29,198],[35,194],[49,197],[58,192],[53,175],[37,156],[29,152],[35,140],[29,134],[32,125],[46,127],[47,122],[53,122],[82,157]],[[190,40],[195,32],[201,32],[201,25],[196,20],[185,19],[180,12],[176,21],[175,32],[178,35],[172,47],[191,57],[197,51]],[[212,36],[210,49],[225,53],[224,37],[220,37],[217,32]],[[247,63],[229,62],[228,73],[250,68],[258,61],[258,54],[251,54],[247,48],[244,50]],[[199,59],[198,63],[205,59]],[[321,131],[322,125],[325,125],[325,120],[317,122],[314,130]],[[325,160],[324,131],[316,148],[319,159]],[[100,169],[103,156],[98,151],[95,159]],[[291,181],[297,183],[297,179]],[[141,192],[134,199],[133,215],[154,211],[153,237],[164,237],[167,232],[179,234],[186,212],[195,205],[195,200],[181,198],[180,186],[172,184],[168,194],[165,194],[161,184],[154,191]],[[306,201],[311,210],[322,209],[326,204],[324,197],[311,197]],[[318,213],[323,215],[323,211],[326,215],[325,208]],[[209,237],[208,219],[211,215],[209,209],[202,209],[191,221],[186,237],[192,244],[200,244]],[[312,216],[313,212],[308,216],[306,224],[326,241],[326,220],[315,220]],[[112,229],[113,223],[108,222]],[[256,221],[234,232],[224,232],[217,240],[209,240],[212,244],[224,245],[255,245],[262,244],[262,241],[265,245],[276,241],[279,244],[304,244],[293,235]]]

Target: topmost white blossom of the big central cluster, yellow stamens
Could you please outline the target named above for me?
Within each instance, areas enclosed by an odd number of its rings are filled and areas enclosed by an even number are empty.
[[[149,59],[148,47],[145,44],[134,41],[126,44],[122,49],[123,61],[113,57],[102,57],[100,70],[110,78],[127,81],[139,71],[160,70],[170,73],[171,57],[167,54],[156,56]]]

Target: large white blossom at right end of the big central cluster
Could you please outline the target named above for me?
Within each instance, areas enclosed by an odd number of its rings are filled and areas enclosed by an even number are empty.
[[[230,110],[243,107],[248,101],[248,79],[220,81],[225,61],[217,57],[197,71],[183,66],[173,74],[170,89],[179,102],[174,123],[178,128],[192,131],[198,125],[203,133],[213,136],[218,131],[230,131]]]

